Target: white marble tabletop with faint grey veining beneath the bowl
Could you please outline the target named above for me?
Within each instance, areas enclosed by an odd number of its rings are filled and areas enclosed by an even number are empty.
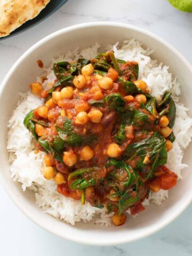
[[[177,11],[166,0],[69,0],[39,25],[0,42],[0,82],[15,60],[39,39],[89,21],[117,21],[145,28],[174,45],[192,62],[192,14]],[[71,243],[36,226],[11,202],[1,185],[0,202],[2,256],[192,255],[191,205],[177,220],[148,238],[121,246],[92,247]]]

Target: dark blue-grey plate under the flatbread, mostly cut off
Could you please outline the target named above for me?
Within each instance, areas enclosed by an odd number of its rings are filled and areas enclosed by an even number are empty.
[[[51,14],[56,12],[63,4],[65,4],[68,0],[51,0],[49,4],[35,17],[33,20],[28,20],[27,22],[23,23],[21,27],[15,29],[13,32],[11,32],[10,35],[0,37],[0,41],[6,38],[10,38],[12,36],[18,35],[22,33],[23,31],[34,27],[39,22],[43,21],[44,19],[48,18]]]

